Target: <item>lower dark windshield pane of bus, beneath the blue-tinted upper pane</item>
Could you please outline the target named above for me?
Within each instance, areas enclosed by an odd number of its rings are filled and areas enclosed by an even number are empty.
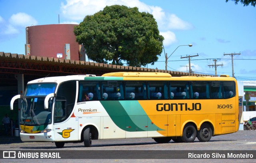
[[[45,97],[28,97],[22,99],[22,108],[20,113],[21,125],[45,125],[52,122],[52,99],[49,102],[49,108],[44,109]]]

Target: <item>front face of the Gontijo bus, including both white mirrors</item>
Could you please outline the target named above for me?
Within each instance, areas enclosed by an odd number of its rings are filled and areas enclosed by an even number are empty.
[[[20,138],[22,141],[54,141],[52,131],[52,104],[56,83],[28,84],[24,95],[12,98],[10,107],[16,99],[22,98],[20,108]],[[45,108],[47,107],[47,108]]]

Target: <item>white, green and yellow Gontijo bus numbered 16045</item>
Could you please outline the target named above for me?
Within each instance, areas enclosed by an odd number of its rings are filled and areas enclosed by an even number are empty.
[[[20,109],[22,141],[65,143],[152,137],[158,143],[209,141],[238,131],[234,78],[159,72],[48,77],[28,82]]]

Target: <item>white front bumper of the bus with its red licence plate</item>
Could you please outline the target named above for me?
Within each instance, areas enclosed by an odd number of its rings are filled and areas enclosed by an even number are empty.
[[[54,141],[54,132],[48,133],[20,133],[22,141]]]

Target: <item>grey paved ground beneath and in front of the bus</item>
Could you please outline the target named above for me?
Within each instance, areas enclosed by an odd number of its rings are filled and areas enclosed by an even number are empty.
[[[158,144],[151,138],[138,138],[138,139],[108,139],[108,140],[94,140],[92,141],[92,147],[84,147],[83,143],[67,143],[64,148],[57,149],[54,143],[48,142],[21,142],[19,137],[0,137],[0,150],[29,150],[29,151],[39,151],[39,150],[53,150],[53,151],[70,151],[70,155],[75,155],[75,153],[83,152],[86,155],[89,151],[95,151],[99,154],[102,154],[102,151],[108,152],[118,152],[120,151],[129,151],[129,150],[138,150],[145,151],[151,150],[156,151],[159,154],[159,151],[170,151],[175,153],[176,151],[189,150],[191,152],[195,151],[209,151],[214,150],[216,152],[222,153],[223,151],[231,150],[241,150],[241,152],[252,152],[254,158],[256,158],[256,131],[238,131],[232,134],[219,135],[212,137],[209,142],[199,142],[198,139],[194,143],[175,143],[170,141],[170,143]],[[187,152],[184,151],[184,152]],[[0,153],[1,154],[1,153]],[[129,154],[129,152],[128,152]],[[150,156],[149,156],[150,157]],[[100,158],[100,156],[99,156]],[[26,160],[26,159],[25,159]],[[25,161],[24,159],[22,161]],[[3,160],[2,160],[3,161]],[[2,162],[0,160],[0,162]],[[5,159],[4,162],[16,162],[18,160],[9,160]],[[43,162],[43,159],[30,160],[36,162]],[[58,159],[58,160],[47,160],[47,162],[84,162],[81,159]],[[256,162],[256,159],[87,159],[86,162]]]

